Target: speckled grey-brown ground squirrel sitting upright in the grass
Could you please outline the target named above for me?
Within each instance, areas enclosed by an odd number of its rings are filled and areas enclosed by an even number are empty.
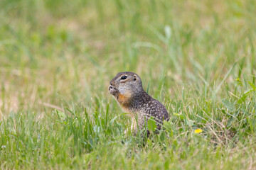
[[[146,94],[142,87],[142,79],[134,72],[119,72],[110,81],[110,94],[114,96],[124,112],[132,117],[132,132],[137,134],[147,125],[147,120],[153,117],[157,129],[161,129],[163,120],[169,120],[166,108],[156,99]]]

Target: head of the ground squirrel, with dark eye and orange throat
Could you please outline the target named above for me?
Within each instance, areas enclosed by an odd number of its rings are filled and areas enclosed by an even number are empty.
[[[119,72],[110,81],[109,91],[119,103],[129,102],[132,97],[144,91],[142,79],[134,72]]]

